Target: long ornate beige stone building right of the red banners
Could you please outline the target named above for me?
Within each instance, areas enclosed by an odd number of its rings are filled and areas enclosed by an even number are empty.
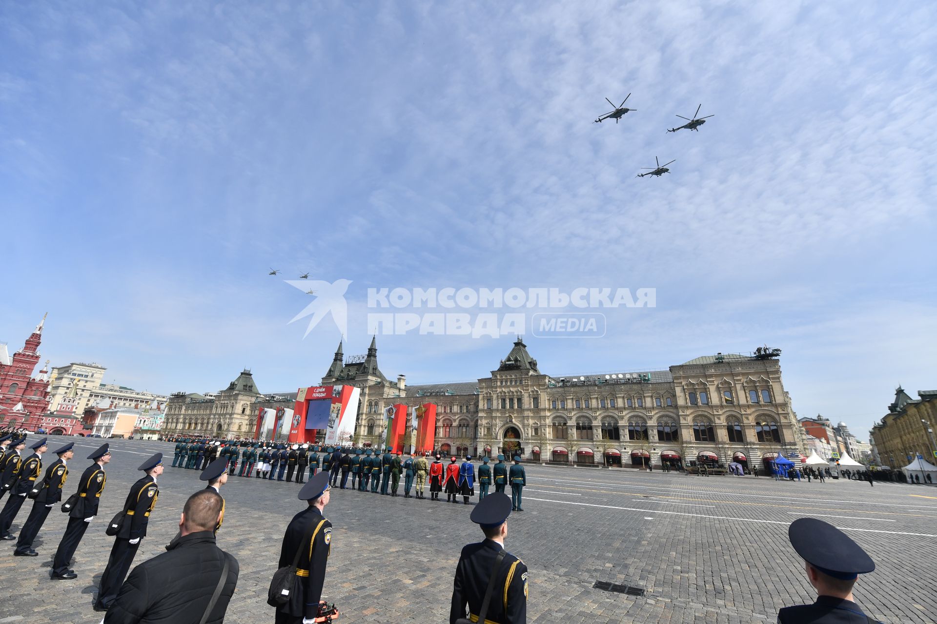
[[[613,466],[700,458],[760,464],[805,450],[777,355],[718,354],[669,370],[553,377],[518,339],[477,382],[401,381],[398,397],[381,375],[384,385],[364,402],[358,438],[379,443],[383,410],[394,403],[435,403],[437,447],[460,455],[519,452],[534,461]],[[330,373],[341,361],[335,356]]]

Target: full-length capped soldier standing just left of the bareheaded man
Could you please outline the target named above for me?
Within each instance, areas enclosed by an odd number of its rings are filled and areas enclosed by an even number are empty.
[[[163,473],[163,454],[156,453],[144,461],[137,470],[146,472],[146,476],[133,484],[126,495],[124,517],[114,537],[108,565],[104,568],[97,586],[95,611],[107,611],[111,608],[117,598],[117,592],[120,591],[120,586],[124,584],[130,564],[137,555],[140,541],[146,537],[146,525],[150,521],[150,514],[156,507],[156,499],[159,498],[156,477]]]

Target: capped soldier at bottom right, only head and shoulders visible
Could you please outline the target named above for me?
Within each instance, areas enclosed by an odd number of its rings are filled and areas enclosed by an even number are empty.
[[[853,586],[859,574],[875,570],[875,562],[859,544],[836,527],[816,518],[797,518],[787,528],[797,555],[804,559],[807,579],[816,588],[813,604],[788,606],[778,612],[779,624],[866,624],[875,622],[855,603]]]

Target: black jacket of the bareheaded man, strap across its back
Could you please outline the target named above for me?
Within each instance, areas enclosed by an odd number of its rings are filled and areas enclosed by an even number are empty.
[[[104,618],[107,624],[199,624],[221,576],[222,558],[228,558],[228,580],[207,622],[224,620],[237,585],[237,559],[216,546],[210,530],[189,533],[169,547],[127,576]]]

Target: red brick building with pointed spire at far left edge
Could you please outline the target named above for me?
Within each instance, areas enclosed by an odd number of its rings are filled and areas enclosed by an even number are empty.
[[[20,351],[9,356],[6,343],[0,343],[0,427],[36,430],[49,407],[48,364],[33,377],[39,362],[39,343],[46,317],[26,339]]]

